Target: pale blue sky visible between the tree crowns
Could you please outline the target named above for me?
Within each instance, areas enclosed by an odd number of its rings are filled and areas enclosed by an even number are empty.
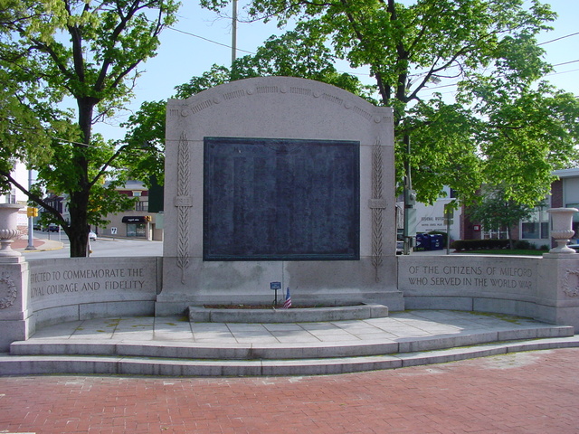
[[[197,0],[182,0],[179,11],[179,21],[174,28],[194,33],[205,39],[219,42],[209,42],[190,34],[166,29],[161,35],[161,45],[157,57],[150,59],[141,66],[145,70],[137,81],[136,98],[130,109],[138,109],[143,101],[167,99],[175,93],[175,87],[209,71],[213,64],[229,66],[231,63],[231,21],[219,18],[213,12],[206,11],[198,5]],[[239,18],[245,15],[243,5],[247,0],[239,0]],[[528,3],[528,0],[527,0]],[[559,15],[553,23],[555,30],[543,34],[539,42],[547,42],[572,33],[579,33],[579,0],[545,0]],[[231,14],[231,11],[225,11]],[[255,52],[271,34],[282,33],[274,23],[239,23],[237,28],[238,56],[246,52]],[[573,92],[579,96],[579,34],[566,37],[556,42],[549,42],[542,47],[546,50],[546,60],[555,66],[555,73],[546,78],[560,89]],[[573,62],[574,61],[574,62]],[[346,66],[344,67],[346,68]],[[366,71],[357,71],[364,73]],[[372,82],[370,77],[360,76],[361,80]],[[443,83],[442,83],[443,84]],[[442,88],[438,91],[452,92],[452,88]],[[118,120],[124,120],[119,118]],[[124,136],[119,127],[99,126],[96,131],[105,138],[117,139]]]

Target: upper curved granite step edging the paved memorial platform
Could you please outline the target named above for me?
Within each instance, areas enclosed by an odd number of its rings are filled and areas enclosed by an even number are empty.
[[[565,325],[524,329],[485,331],[455,335],[400,338],[364,342],[327,342],[299,344],[198,344],[167,341],[110,341],[106,339],[31,339],[14,342],[13,355],[118,355],[175,359],[274,360],[316,359],[415,353],[445,348],[489,344],[522,339],[573,336],[574,328]]]

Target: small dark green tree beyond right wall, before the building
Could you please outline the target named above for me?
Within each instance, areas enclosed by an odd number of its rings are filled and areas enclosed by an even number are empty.
[[[512,229],[521,220],[528,219],[534,207],[507,198],[504,188],[484,188],[480,201],[469,209],[472,222],[479,222],[486,231],[507,231],[510,248],[513,249]]]

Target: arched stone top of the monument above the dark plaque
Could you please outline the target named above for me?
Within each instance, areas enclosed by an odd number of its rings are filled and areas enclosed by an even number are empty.
[[[171,129],[175,136],[167,137],[174,140],[186,130],[189,139],[195,139],[191,136],[196,131],[204,136],[304,138],[323,134],[356,140],[364,131],[367,139],[374,141],[376,134],[392,131],[384,128],[392,125],[392,109],[375,107],[346,90],[315,80],[258,77],[216,86],[189,99],[169,100],[167,124],[180,126]],[[337,128],[340,124],[344,127]],[[348,126],[358,131],[348,134]],[[392,135],[381,139],[383,145],[393,145]]]

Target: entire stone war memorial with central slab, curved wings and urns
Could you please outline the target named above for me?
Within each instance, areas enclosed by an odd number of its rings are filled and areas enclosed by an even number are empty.
[[[292,321],[359,307],[579,327],[573,210],[550,210],[560,245],[543,257],[396,256],[394,201],[392,109],[287,77],[169,100],[163,257],[27,262],[10,250],[17,207],[1,205],[0,352],[68,321],[268,306],[273,282],[291,290]]]

